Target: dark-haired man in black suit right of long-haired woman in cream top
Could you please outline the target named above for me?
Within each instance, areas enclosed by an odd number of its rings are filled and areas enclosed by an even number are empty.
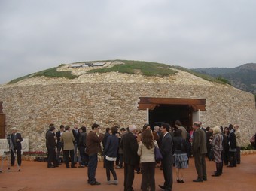
[[[161,145],[160,145],[160,152],[162,153],[162,167],[163,167],[163,177],[164,177],[164,184],[163,186],[159,185],[161,189],[171,191],[172,190],[172,136],[169,133],[169,124],[163,123],[161,125],[161,132],[163,135]]]

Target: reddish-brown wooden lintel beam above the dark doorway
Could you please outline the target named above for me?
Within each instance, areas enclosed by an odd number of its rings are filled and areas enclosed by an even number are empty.
[[[189,105],[194,111],[206,111],[206,99],[139,97],[139,110],[154,110],[160,105]]]

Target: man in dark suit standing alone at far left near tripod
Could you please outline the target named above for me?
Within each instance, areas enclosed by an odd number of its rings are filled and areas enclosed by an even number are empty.
[[[13,166],[15,162],[14,153],[17,153],[17,163],[20,166],[21,165],[21,142],[23,141],[23,138],[21,137],[20,133],[17,132],[16,127],[12,128],[11,130],[12,130],[12,133],[11,133],[10,141],[14,146],[13,148],[11,148],[11,166]]]

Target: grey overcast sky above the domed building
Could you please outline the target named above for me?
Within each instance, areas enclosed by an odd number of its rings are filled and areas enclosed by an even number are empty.
[[[0,84],[80,61],[256,62],[254,0],[0,0]]]

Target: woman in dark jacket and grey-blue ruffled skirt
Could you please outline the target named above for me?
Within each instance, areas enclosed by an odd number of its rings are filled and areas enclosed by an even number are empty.
[[[186,140],[182,138],[181,129],[177,129],[174,133],[173,148],[174,148],[174,162],[176,168],[176,181],[177,183],[184,183],[184,168],[188,168],[188,158],[186,150]]]

